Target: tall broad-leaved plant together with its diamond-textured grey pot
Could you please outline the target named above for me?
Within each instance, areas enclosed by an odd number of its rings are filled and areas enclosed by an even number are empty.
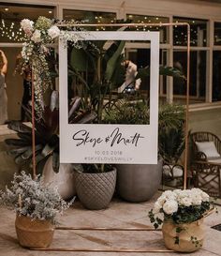
[[[73,96],[96,113],[93,123],[102,123],[105,101],[111,100],[112,90],[125,80],[122,65],[125,42],[106,41],[85,43],[81,49],[69,49],[69,86]],[[103,209],[111,202],[116,184],[116,169],[108,164],[82,164],[75,173],[77,195],[88,209]]]

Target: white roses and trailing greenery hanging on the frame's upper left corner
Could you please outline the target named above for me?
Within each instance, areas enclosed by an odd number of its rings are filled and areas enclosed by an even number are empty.
[[[33,72],[35,87],[35,107],[37,116],[40,118],[44,110],[43,94],[49,86],[52,86],[52,77],[47,62],[50,54],[49,46],[58,37],[71,41],[77,48],[78,37],[70,34],[67,30],[60,30],[55,20],[40,16],[34,23],[28,19],[21,22],[22,30],[25,33],[26,41],[22,46],[22,71],[30,65]],[[73,29],[74,30],[74,29]]]

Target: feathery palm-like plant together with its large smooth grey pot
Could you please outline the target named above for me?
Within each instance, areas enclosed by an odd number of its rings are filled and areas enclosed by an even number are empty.
[[[131,99],[131,98],[129,98]],[[149,123],[148,101],[140,98],[120,99],[111,104],[104,114],[104,122],[111,124]],[[179,105],[165,104],[159,107],[159,145],[162,145],[166,130],[177,130],[184,123],[184,108]],[[128,202],[144,202],[152,198],[160,186],[164,147],[159,147],[158,163],[118,164],[117,191]]]

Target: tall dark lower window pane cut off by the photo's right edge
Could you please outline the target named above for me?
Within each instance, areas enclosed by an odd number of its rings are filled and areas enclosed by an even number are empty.
[[[221,51],[214,51],[213,101],[221,100]]]

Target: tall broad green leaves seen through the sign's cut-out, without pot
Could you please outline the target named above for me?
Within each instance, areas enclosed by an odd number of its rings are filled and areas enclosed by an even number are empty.
[[[70,53],[70,83],[83,99],[84,105],[97,113],[97,123],[101,122],[104,99],[125,81],[123,49],[124,41],[113,41],[111,46],[106,41],[95,41]]]

